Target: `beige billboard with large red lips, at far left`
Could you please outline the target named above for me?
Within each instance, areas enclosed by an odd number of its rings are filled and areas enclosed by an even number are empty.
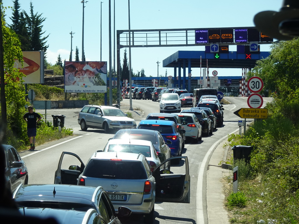
[[[24,73],[24,84],[44,83],[44,52],[43,51],[22,51],[23,67],[19,60],[15,60],[13,67],[19,68]]]

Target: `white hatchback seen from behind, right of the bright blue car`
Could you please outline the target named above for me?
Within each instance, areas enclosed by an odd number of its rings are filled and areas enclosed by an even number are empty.
[[[194,143],[202,140],[202,125],[200,125],[194,113],[175,113],[181,119],[181,122],[187,122],[184,126],[186,139],[193,139]]]

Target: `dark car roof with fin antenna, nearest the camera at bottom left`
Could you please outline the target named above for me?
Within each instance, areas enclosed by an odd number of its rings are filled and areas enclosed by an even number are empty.
[[[42,195],[44,198],[48,198],[49,201],[59,201],[63,197],[65,202],[79,203],[79,200],[92,201],[95,192],[98,190],[104,191],[100,186],[97,188],[68,184],[27,184],[20,185],[14,192],[13,197],[15,200],[20,197],[26,197],[27,200],[36,200],[36,197],[39,197],[38,195]],[[53,192],[55,192],[55,197],[53,197]]]

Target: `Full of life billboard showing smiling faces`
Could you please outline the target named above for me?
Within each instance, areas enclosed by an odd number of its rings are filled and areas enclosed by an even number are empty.
[[[106,93],[107,62],[65,62],[65,93]]]

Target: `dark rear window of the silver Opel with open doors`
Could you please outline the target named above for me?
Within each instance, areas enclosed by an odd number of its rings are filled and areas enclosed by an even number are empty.
[[[83,175],[106,179],[147,179],[141,161],[91,159],[87,163]]]

